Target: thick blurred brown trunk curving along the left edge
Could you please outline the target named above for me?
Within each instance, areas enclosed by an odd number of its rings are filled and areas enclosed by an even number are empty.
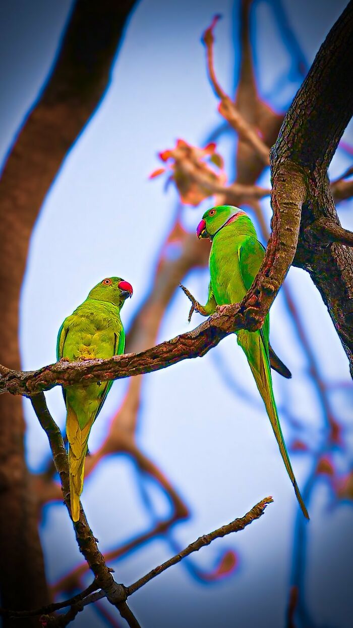
[[[34,222],[66,152],[97,107],[134,0],[78,0],[53,74],[0,183],[0,362],[20,367],[18,305]],[[0,399],[0,590],[5,607],[42,605],[47,589],[24,461],[19,397]],[[11,626],[17,622],[11,622]],[[23,625],[23,623],[21,623]]]

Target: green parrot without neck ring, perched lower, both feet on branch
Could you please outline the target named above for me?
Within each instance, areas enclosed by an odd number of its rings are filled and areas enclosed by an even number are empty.
[[[125,332],[120,310],[132,296],[132,286],[120,277],[108,277],[90,291],[87,299],[65,318],[58,333],[56,359],[91,360],[120,355]],[[71,517],[78,521],[88,436],[113,382],[75,384],[63,389],[70,473]]]

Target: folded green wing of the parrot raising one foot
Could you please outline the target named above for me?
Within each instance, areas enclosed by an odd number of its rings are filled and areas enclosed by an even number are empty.
[[[245,244],[240,247],[238,251],[240,274],[246,290],[250,290],[251,284],[253,283],[256,274],[258,274],[258,271],[262,264],[263,257],[265,257],[265,247],[263,247],[261,242],[259,242],[255,238],[248,238]],[[286,379],[290,379],[290,377],[292,377],[292,373],[289,369],[287,369],[287,366],[283,364],[282,360],[273,351],[269,342],[269,334],[270,320],[269,317],[266,316],[265,323],[261,328],[261,336],[266,349],[266,353],[268,354],[268,359],[270,360],[271,368],[277,371],[283,377],[286,377]]]

